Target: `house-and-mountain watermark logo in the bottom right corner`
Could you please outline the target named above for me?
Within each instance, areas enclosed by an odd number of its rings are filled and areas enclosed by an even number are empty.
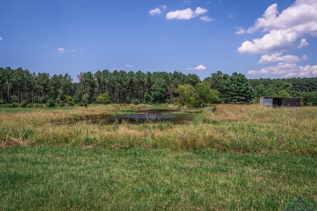
[[[307,199],[294,198],[290,203],[283,204],[284,211],[317,211],[317,204]]]

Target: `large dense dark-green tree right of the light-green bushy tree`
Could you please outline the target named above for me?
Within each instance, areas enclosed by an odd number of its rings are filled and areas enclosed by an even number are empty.
[[[252,100],[252,89],[245,75],[233,73],[224,88],[225,103],[247,103]]]

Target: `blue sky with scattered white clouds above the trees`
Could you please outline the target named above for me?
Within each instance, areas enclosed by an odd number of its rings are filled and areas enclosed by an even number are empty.
[[[317,77],[317,0],[3,0],[0,67]]]

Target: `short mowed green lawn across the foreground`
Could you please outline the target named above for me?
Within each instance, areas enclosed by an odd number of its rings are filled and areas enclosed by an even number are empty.
[[[317,156],[0,148],[0,210],[283,210],[317,202]]]

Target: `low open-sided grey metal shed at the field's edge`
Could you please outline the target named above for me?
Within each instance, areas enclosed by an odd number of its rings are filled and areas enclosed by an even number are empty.
[[[267,107],[300,107],[303,97],[260,97],[260,105]]]

